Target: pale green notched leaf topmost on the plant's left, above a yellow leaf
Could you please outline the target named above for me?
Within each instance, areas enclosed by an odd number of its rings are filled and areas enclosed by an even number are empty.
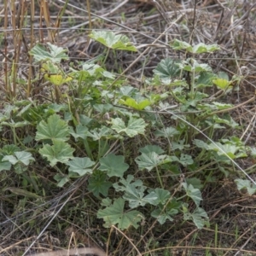
[[[52,61],[55,63],[60,63],[62,60],[68,60],[66,54],[67,49],[58,47],[55,44],[47,43],[49,46],[49,51],[44,48],[41,44],[36,44],[30,51],[29,54],[33,55],[35,61]]]

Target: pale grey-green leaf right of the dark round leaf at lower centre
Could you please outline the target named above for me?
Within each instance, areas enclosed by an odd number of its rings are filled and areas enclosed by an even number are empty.
[[[150,172],[155,167],[165,164],[166,157],[166,154],[159,155],[156,154],[155,152],[151,152],[148,154],[143,153],[137,156],[135,161],[137,162],[137,165],[140,170],[147,169],[148,172]]]

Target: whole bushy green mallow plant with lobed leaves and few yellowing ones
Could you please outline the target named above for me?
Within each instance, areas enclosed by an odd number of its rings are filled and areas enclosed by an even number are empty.
[[[137,50],[114,32],[91,32],[90,37],[106,47],[105,61],[110,50]],[[208,224],[201,189],[220,174],[236,172],[235,160],[254,151],[232,136],[240,129],[230,115],[235,106],[222,101],[237,78],[214,73],[199,61],[218,45],[174,40],[170,47],[189,58],[160,61],[145,80],[146,90],[139,90],[117,80],[104,61],[77,67],[69,62],[64,71],[66,49],[35,45],[30,54],[40,64],[52,102],[25,100],[12,107],[11,116],[3,111],[1,129],[12,127],[15,140],[0,151],[0,171],[26,178],[28,166],[40,157],[58,187],[87,176],[87,189],[101,205],[96,216],[107,228],[137,229],[150,217],[165,224],[183,216],[198,229]],[[26,134],[17,133],[23,127],[29,128]],[[35,189],[40,183],[38,178],[26,182]],[[255,192],[247,179],[236,183]]]

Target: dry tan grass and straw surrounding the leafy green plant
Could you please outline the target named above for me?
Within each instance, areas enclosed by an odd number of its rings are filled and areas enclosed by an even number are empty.
[[[3,2],[3,3],[2,3]],[[152,74],[157,63],[166,56],[184,58],[185,53],[172,52],[168,42],[174,38],[190,44],[218,44],[221,51],[201,55],[215,73],[224,71],[242,79],[239,90],[225,101],[239,105],[255,95],[255,25],[256,5],[251,1],[1,1],[1,76],[2,105],[17,99],[50,101],[47,89],[33,80],[39,67],[32,66],[28,51],[36,42],[52,42],[65,47],[74,63],[88,61],[102,53],[102,46],[91,42],[91,29],[107,29],[125,33],[137,46],[137,54],[118,52],[109,55],[109,71],[129,79],[134,86],[142,86],[145,76]],[[197,4],[195,4],[197,2]],[[88,11],[90,9],[90,11]],[[63,12],[62,12],[63,10]],[[67,63],[63,63],[67,65]],[[12,72],[12,73],[11,73]],[[27,84],[19,79],[26,78]],[[214,93],[214,91],[212,91]],[[254,102],[241,104],[232,115],[244,128],[238,137],[254,145],[256,136]],[[240,166],[253,177],[253,159],[241,161]],[[50,170],[39,165],[47,198],[38,198],[30,208],[29,200],[0,195],[0,255],[21,255],[44,248],[67,247],[79,243],[108,248],[111,255],[256,255],[255,197],[241,194],[231,177],[222,183],[209,183],[203,193],[203,208],[211,226],[196,230],[183,224],[182,216],[169,226],[162,227],[148,219],[140,233],[104,230],[93,217],[96,202],[88,205],[83,181],[73,186],[55,189],[48,183]],[[216,170],[218,172],[218,170]],[[1,177],[0,187],[15,187],[20,177]],[[87,197],[87,200],[85,200]],[[24,207],[26,205],[26,207]],[[35,229],[35,227],[37,229]],[[75,230],[70,231],[71,227]],[[44,230],[47,228],[47,231]],[[67,230],[65,233],[62,230]],[[40,234],[38,240],[36,237]],[[35,242],[35,243],[34,243]]]

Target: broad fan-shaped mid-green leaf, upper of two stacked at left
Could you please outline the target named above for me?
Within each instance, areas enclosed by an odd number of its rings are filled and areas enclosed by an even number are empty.
[[[47,123],[43,120],[37,126],[36,140],[54,140],[67,141],[68,126],[64,120],[57,114],[53,114],[47,119]]]

